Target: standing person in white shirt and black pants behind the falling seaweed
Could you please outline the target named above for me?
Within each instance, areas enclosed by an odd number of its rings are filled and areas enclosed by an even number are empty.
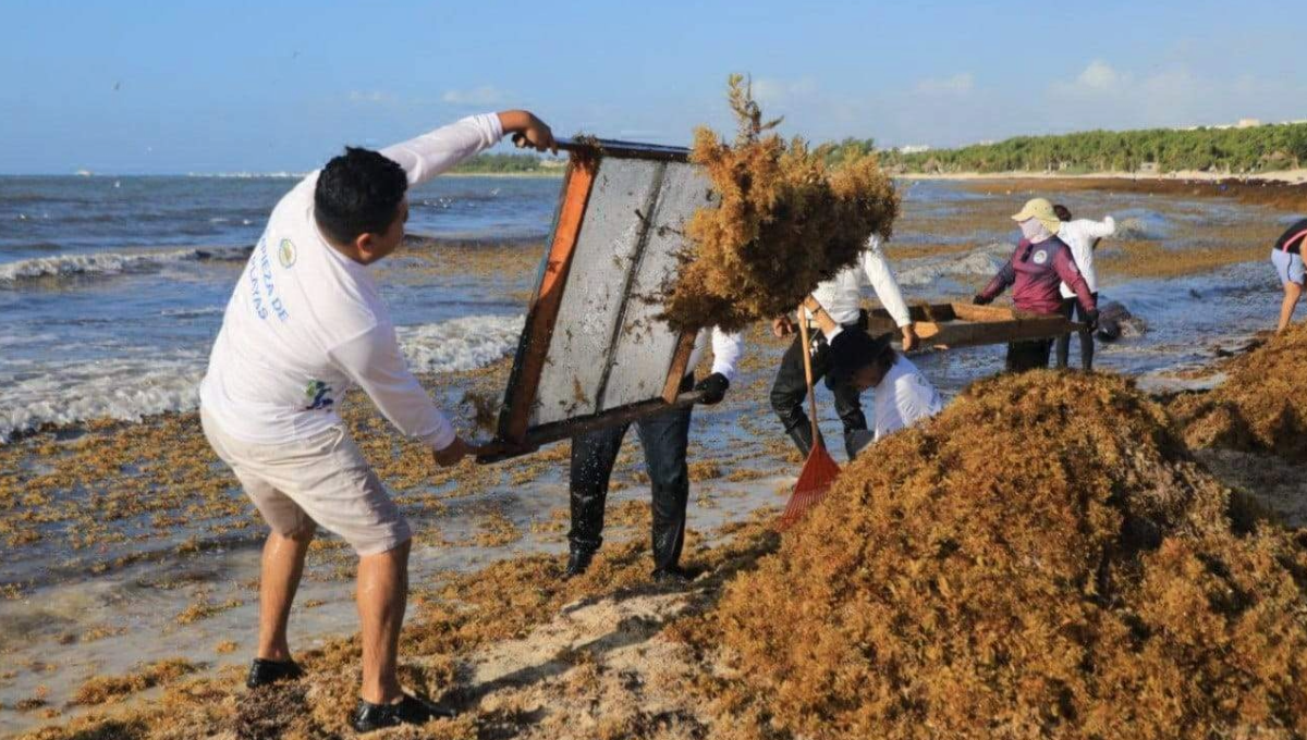
[[[912,330],[912,318],[908,315],[907,304],[903,303],[903,294],[899,291],[894,273],[881,249],[881,238],[872,235],[867,241],[867,249],[856,265],[846,268],[834,278],[818,283],[812,296],[817,299],[830,317],[839,325],[848,329],[867,330],[867,316],[863,313],[863,286],[869,285],[881,300],[885,309],[894,317],[894,322],[903,334],[903,348],[911,350],[916,346],[916,334]],[[801,321],[812,322],[812,315],[804,312]],[[772,333],[780,338],[795,333],[789,317],[780,317],[772,321]],[[812,333],[812,347],[802,347],[799,335],[786,350],[776,371],[776,380],[771,385],[771,407],[786,427],[786,433],[793,440],[799,452],[808,457],[812,450],[812,425],[808,414],[804,412],[804,399],[808,395],[808,382],[804,377],[802,352],[812,352],[813,381],[821,380],[830,369],[830,352],[827,341],[821,331]],[[867,416],[863,414],[860,392],[846,382],[834,382],[826,377],[826,386],[835,397],[835,412],[839,414],[844,424],[844,450],[848,457],[853,457],[855,432],[867,429]]]

